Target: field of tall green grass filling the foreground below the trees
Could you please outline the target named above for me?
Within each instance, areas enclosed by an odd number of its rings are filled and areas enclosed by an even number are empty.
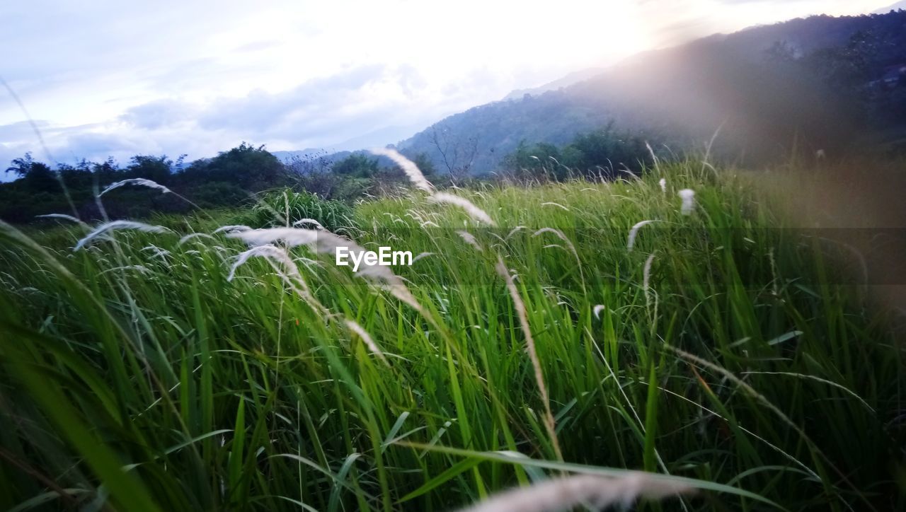
[[[447,191],[495,226],[359,204],[360,245],[421,255],[399,280],[283,245],[228,280],[227,215],[3,225],[0,507],[445,510],[624,469],[698,489],[651,510],[903,507],[890,314],[749,179]]]

